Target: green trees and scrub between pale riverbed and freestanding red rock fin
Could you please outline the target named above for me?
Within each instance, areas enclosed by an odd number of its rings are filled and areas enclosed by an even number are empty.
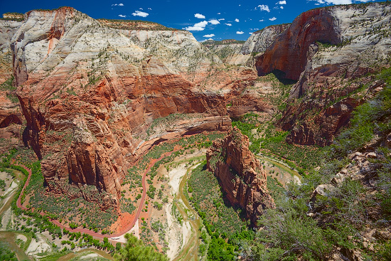
[[[208,260],[235,260],[240,247],[254,240],[255,233],[241,220],[240,210],[223,200],[218,179],[206,170],[205,162],[188,179],[188,197],[206,228],[206,232],[201,232],[200,252],[209,244]]]

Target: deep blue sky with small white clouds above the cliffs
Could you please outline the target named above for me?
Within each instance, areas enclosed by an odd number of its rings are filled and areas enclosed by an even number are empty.
[[[279,23],[291,23],[299,14],[316,7],[371,0],[0,0],[0,13],[26,13],[32,9],[72,6],[92,18],[144,20],[191,31],[198,41],[213,38],[246,40],[254,31]]]

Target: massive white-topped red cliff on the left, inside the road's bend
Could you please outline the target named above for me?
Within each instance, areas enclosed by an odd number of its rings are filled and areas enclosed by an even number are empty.
[[[67,7],[28,12],[11,48],[23,140],[42,159],[48,190],[98,202],[85,192],[93,188],[107,207],[117,203],[127,169],[154,144],[227,131],[225,94],[257,78],[249,68],[222,70],[187,31],[96,21]],[[236,102],[235,114],[243,106],[263,110],[252,100]]]

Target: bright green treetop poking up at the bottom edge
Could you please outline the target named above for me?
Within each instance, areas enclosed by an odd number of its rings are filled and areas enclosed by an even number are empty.
[[[127,243],[119,252],[114,255],[117,261],[168,261],[168,257],[159,252],[155,252],[151,246],[145,246],[141,240],[134,235],[126,234]]]

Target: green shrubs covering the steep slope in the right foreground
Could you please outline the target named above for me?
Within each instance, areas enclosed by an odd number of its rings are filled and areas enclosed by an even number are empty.
[[[372,251],[364,242],[368,228],[387,230],[391,222],[391,149],[381,142],[391,133],[391,69],[383,70],[379,79],[387,87],[356,108],[350,127],[328,148],[321,169],[304,177],[302,186],[291,184],[288,193],[274,195],[277,208],[259,220],[264,228],[252,245],[253,259],[326,260],[340,249],[361,252],[365,260],[390,260],[390,240],[372,241]],[[377,157],[369,159],[370,169],[363,172],[368,180],[346,177],[311,199],[318,185],[330,183],[343,167],[354,166],[348,154],[370,142]],[[309,211],[316,212],[316,219]]]

